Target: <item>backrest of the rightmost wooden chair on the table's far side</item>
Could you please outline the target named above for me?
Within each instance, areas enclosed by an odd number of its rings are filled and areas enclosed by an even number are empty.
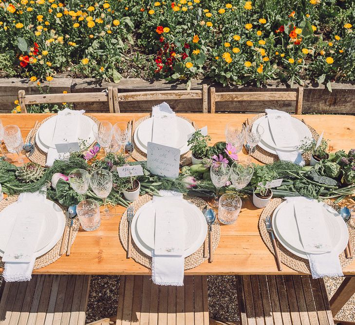
[[[235,92],[216,93],[216,89],[209,89],[211,113],[216,113],[216,102],[218,101],[272,101],[285,100],[296,101],[295,114],[302,114],[303,88],[298,87],[296,92]]]

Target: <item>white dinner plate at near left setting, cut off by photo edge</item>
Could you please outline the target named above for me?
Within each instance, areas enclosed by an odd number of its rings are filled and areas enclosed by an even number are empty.
[[[14,202],[0,212],[0,256],[4,254],[17,215],[24,213],[23,211],[43,214],[44,221],[41,233],[38,234],[36,257],[51,250],[62,237],[66,219],[63,210],[56,203],[47,199]]]

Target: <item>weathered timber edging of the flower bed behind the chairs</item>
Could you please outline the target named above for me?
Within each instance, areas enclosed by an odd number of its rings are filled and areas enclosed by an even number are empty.
[[[216,92],[230,91],[285,91],[286,87],[280,83],[271,83],[264,88],[254,87],[222,87],[213,84],[210,80],[192,81],[191,89],[201,89],[201,84],[206,83],[216,88]],[[48,82],[42,84],[42,89],[47,91]],[[184,83],[169,83],[166,81],[146,81],[142,79],[122,79],[118,84],[104,82],[95,79],[75,78],[54,78],[50,82],[50,93],[86,93],[101,92],[108,86],[118,88],[118,93],[130,91],[151,91],[151,90],[175,90],[186,89]],[[344,83],[333,83],[333,92],[330,93],[323,85],[304,85],[303,107],[304,114],[355,114],[355,85]],[[295,87],[296,88],[296,87]],[[17,99],[19,90],[23,89],[26,94],[39,94],[36,83],[28,79],[0,78],[0,113],[9,113],[15,107],[14,100]],[[289,89],[287,89],[289,91]],[[146,111],[149,112],[153,105],[159,104],[156,101],[137,103],[120,103],[121,112]],[[199,100],[171,101],[169,104],[178,112],[201,112]],[[265,108],[279,108],[287,112],[294,112],[293,102],[219,102],[216,104],[217,112],[264,112]],[[87,112],[109,112],[107,103],[78,103],[76,109],[85,109]]]

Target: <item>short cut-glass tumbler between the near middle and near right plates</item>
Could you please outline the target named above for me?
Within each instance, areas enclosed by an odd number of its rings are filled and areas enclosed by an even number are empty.
[[[223,194],[218,204],[218,220],[224,225],[231,225],[237,220],[241,208],[242,200],[238,195]]]

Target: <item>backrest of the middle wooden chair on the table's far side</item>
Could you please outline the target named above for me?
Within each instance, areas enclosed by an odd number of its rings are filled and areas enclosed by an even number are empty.
[[[202,90],[171,90],[154,92],[133,92],[118,93],[117,88],[113,88],[113,110],[120,113],[120,102],[146,101],[146,100],[180,100],[180,99],[201,99],[202,113],[207,113],[207,85],[202,85]],[[110,110],[110,113],[111,112]]]

